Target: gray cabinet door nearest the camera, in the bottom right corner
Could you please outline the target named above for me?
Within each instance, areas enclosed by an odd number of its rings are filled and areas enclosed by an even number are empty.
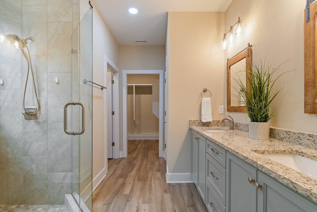
[[[261,171],[258,183],[258,212],[317,212],[317,205]]]

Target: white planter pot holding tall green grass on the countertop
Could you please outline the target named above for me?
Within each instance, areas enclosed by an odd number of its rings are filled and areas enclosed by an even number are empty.
[[[249,138],[258,140],[269,139],[268,122],[249,122]]]

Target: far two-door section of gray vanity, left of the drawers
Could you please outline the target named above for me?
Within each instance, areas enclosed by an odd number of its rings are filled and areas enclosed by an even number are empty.
[[[205,203],[206,138],[193,131],[191,137],[191,175],[197,190]]]

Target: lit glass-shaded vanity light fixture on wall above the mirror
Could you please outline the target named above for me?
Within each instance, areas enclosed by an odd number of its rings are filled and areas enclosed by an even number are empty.
[[[241,22],[241,17],[238,17],[238,21],[235,22],[233,26],[230,26],[229,31],[223,34],[223,38],[220,42],[220,48],[221,49],[226,49],[227,47],[230,46],[230,44],[233,43],[233,38],[234,37],[241,37],[244,35],[244,25]]]

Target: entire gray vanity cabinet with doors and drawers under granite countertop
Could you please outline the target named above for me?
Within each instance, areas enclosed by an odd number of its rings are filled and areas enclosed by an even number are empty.
[[[191,175],[209,212],[317,212],[317,204],[191,131]]]

